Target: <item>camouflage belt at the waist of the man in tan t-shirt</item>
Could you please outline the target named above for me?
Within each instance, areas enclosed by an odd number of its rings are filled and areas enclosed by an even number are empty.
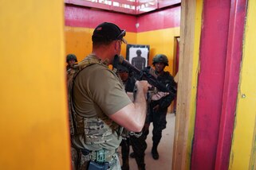
[[[81,149],[81,153],[85,156],[85,160],[95,161],[96,163],[110,162],[112,156],[116,153],[117,149],[107,150],[100,149],[96,151],[90,151],[88,149]]]

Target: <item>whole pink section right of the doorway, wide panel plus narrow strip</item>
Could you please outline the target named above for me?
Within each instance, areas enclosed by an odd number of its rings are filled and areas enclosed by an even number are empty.
[[[191,169],[228,169],[246,0],[203,3]]]

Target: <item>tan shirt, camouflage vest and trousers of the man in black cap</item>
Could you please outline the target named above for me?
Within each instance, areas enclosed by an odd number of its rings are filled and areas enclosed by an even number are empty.
[[[132,101],[118,76],[96,56],[89,55],[77,65],[84,69],[71,88],[75,110],[71,137],[73,169],[87,169],[92,161],[107,164],[104,169],[120,169],[116,149],[122,128],[108,116]]]

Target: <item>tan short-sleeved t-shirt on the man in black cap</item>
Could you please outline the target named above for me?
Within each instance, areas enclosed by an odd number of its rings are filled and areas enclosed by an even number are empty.
[[[75,79],[73,102],[77,114],[85,118],[102,118],[115,114],[132,101],[126,95],[117,75],[103,64],[93,64],[82,70]],[[121,137],[113,131],[111,141],[85,145],[84,135],[75,137],[73,144],[85,149],[116,149]]]

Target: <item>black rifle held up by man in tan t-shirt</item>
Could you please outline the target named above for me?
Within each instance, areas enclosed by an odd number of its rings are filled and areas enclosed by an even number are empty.
[[[123,65],[125,68],[128,68],[129,71],[134,72],[136,75],[139,75],[139,79],[145,79],[150,83],[152,86],[156,87],[159,91],[169,92],[170,95],[176,95],[176,87],[169,87],[167,88],[163,83],[157,80],[157,75],[152,68],[148,67],[143,70],[139,70],[138,68],[134,67],[132,64],[125,60],[122,56],[116,55],[113,60],[113,68],[116,68],[118,64]]]

